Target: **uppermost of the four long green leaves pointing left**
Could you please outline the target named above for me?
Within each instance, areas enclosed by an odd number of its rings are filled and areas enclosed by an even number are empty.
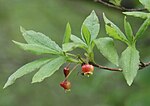
[[[32,30],[26,31],[22,27],[20,27],[20,30],[22,32],[24,39],[27,41],[27,43],[46,46],[52,50],[62,52],[62,49],[46,35],[40,32],[32,31]]]

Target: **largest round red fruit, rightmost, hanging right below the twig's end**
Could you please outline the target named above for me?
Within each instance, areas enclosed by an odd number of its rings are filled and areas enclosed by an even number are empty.
[[[83,72],[84,75],[88,75],[89,76],[89,75],[93,74],[93,71],[94,71],[93,65],[84,64],[82,66],[82,72]]]

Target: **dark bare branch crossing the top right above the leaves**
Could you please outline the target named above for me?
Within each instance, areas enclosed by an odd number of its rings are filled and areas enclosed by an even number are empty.
[[[102,3],[108,7],[111,7],[111,8],[115,8],[115,9],[118,9],[118,10],[121,10],[121,11],[144,11],[144,10],[147,10],[145,8],[137,8],[137,9],[128,9],[128,8],[125,8],[125,7],[121,7],[121,6],[116,6],[112,3],[108,3],[108,2],[104,2],[103,0],[94,0],[95,2],[99,2],[99,3]]]

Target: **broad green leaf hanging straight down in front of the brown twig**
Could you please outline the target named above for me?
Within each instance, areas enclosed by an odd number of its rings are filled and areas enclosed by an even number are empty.
[[[139,59],[139,52],[135,47],[130,46],[122,52],[120,58],[120,67],[123,69],[123,75],[129,86],[133,83],[133,80],[136,77],[139,69]]]

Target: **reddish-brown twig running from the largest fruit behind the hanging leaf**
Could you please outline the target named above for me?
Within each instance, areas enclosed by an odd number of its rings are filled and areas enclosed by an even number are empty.
[[[147,66],[150,66],[150,62],[148,63],[143,63],[143,62],[140,62],[141,64],[139,65],[139,70],[147,67]],[[102,66],[100,64],[97,64],[97,63],[94,63],[94,62],[89,62],[89,64],[97,67],[97,68],[100,68],[100,69],[105,69],[105,70],[108,70],[108,71],[117,71],[117,72],[122,72],[123,70],[121,68],[110,68],[110,67],[107,67],[107,66]]]

